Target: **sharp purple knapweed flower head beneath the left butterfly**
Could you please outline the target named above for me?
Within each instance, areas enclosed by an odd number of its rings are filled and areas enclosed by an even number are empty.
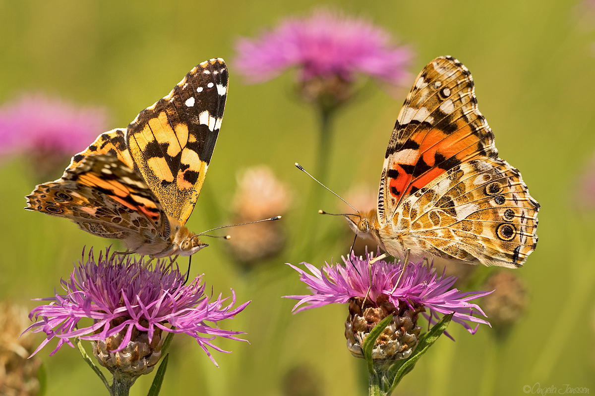
[[[61,281],[66,294],[56,293],[55,297],[44,299],[52,302],[37,306],[29,314],[36,322],[27,331],[47,335],[33,354],[54,337],[59,338],[58,346],[50,355],[64,344],[73,347],[71,338],[78,337],[98,343],[97,347],[94,345],[93,353],[102,363],[100,357],[109,360],[110,353],[113,355],[131,343],[142,341],[146,344],[146,359],[150,361],[147,364],[152,370],[160,356],[162,342],[159,340],[163,340],[161,332],[164,331],[185,333],[195,338],[217,365],[207,347],[227,351],[211,341],[217,337],[242,340],[236,336],[244,333],[221,330],[215,326],[216,322],[241,312],[249,302],[232,308],[236,303],[233,290],[227,305],[224,306],[224,302],[228,297],[223,299],[221,294],[209,302],[205,285],[201,284],[202,275],[190,284],[184,284],[184,281],[185,276],[173,260],[156,260],[147,265],[142,258],[114,254],[110,257],[108,248],[105,254],[99,254],[97,261],[91,250],[84,262],[83,251],[83,258],[70,278]],[[77,328],[83,318],[93,319],[93,324]],[[158,355],[156,359],[155,354]],[[107,363],[108,368],[113,365],[113,362]]]

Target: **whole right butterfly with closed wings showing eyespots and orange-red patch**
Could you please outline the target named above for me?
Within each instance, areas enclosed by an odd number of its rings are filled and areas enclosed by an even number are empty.
[[[347,214],[386,255],[521,267],[537,213],[518,169],[500,159],[469,70],[434,59],[411,88],[390,137],[377,208]]]

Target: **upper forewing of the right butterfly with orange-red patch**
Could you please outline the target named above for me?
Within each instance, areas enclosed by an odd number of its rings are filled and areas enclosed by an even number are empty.
[[[494,135],[477,108],[473,79],[452,56],[419,73],[390,137],[378,191],[378,220],[442,173],[469,160],[498,157]]]

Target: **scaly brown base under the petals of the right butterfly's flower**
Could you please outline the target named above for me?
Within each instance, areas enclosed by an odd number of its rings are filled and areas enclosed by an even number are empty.
[[[362,308],[363,300],[362,297],[349,300],[349,316],[345,321],[347,349],[353,356],[364,358],[362,344],[369,332],[382,319],[393,313],[393,320],[374,343],[372,359],[394,361],[411,356],[418,344],[421,331],[421,327],[417,325],[418,314],[424,311],[424,308],[414,306],[414,309],[411,309],[404,302],[398,307],[394,306],[384,294],[378,297],[375,303],[367,299]]]

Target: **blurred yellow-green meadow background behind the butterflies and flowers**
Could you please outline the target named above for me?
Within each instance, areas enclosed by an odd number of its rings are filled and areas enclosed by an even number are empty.
[[[217,369],[192,338],[177,336],[161,394],[283,395],[287,373],[296,367],[309,372],[322,394],[367,392],[364,365],[345,347],[346,306],[292,315],[295,302],[280,298],[306,292],[284,262],[304,259],[296,251],[306,237],[299,235],[301,218],[319,209],[305,207],[319,187],[293,166],[299,161],[314,169],[315,113],[297,99],[293,73],[245,85],[230,62],[238,37],[253,37],[279,18],[308,14],[318,5],[368,17],[410,45],[417,53],[414,75],[439,55],[463,62],[500,157],[522,171],[541,204],[537,250],[515,271],[528,285],[530,304],[506,342],[496,346],[486,326],[470,335],[453,325],[456,342],[441,338],[395,394],[476,395],[489,378],[496,382],[493,394],[524,394],[525,385],[537,382],[595,392],[595,217],[575,208],[578,180],[595,153],[595,34],[576,2],[0,0],[0,103],[21,91],[43,91],[107,107],[109,129],[124,127],[199,62],[228,61],[225,121],[190,229],[228,224],[236,175],[248,166],[268,164],[293,191],[292,210],[281,220],[289,233],[281,255],[241,271],[226,242],[215,240],[193,260],[193,271],[206,274],[215,294],[233,288],[239,302],[252,300],[233,321],[220,324],[246,331],[250,344],[219,341],[233,353],[215,352]],[[339,194],[359,183],[376,188],[407,89],[394,99],[371,85],[337,115],[330,188]],[[109,241],[22,210],[36,184],[24,167],[19,159],[0,166],[0,297],[33,308],[30,299],[60,287],[83,245],[100,249]],[[330,194],[323,207],[341,210]],[[320,267],[346,254],[351,237],[340,218],[314,220],[319,235],[337,236],[311,260]],[[52,346],[38,354],[48,395],[106,394],[76,350],[62,347],[48,357]],[[494,349],[501,359],[495,365]],[[140,378],[131,394],[146,394],[151,381],[152,375]]]

